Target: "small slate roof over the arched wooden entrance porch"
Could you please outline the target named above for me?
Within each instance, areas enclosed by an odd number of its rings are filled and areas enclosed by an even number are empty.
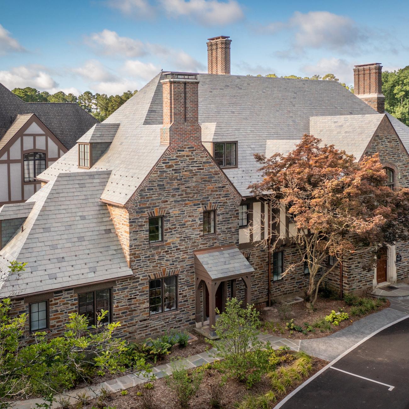
[[[226,279],[254,271],[236,246],[202,250],[194,254],[212,280]]]

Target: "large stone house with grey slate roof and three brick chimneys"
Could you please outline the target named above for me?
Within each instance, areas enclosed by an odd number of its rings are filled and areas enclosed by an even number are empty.
[[[281,276],[295,250],[259,245],[273,225],[248,188],[260,178],[254,153],[286,153],[310,133],[358,160],[379,152],[391,187],[407,184],[409,128],[383,112],[380,88],[231,75],[230,42],[209,39],[209,74],[157,74],[38,175],[44,186],[26,203],[0,208],[14,229],[2,240],[0,297],[29,312],[27,335],[55,336],[68,313],[93,322],[103,308],[120,335],[143,339],[212,324],[230,296],[263,305],[302,293],[308,268]],[[379,65],[357,67],[360,84],[379,87]],[[285,215],[274,228],[292,229]],[[28,263],[19,276],[7,274],[15,259]],[[407,280],[408,263],[396,243],[373,273],[346,261],[330,283]]]

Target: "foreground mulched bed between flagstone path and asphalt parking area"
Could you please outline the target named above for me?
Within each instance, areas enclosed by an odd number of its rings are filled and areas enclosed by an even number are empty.
[[[297,388],[302,382],[314,375],[321,368],[323,368],[327,361],[319,358],[313,358],[312,371],[307,378],[296,382],[291,388],[287,388],[286,394]],[[212,389],[215,385],[219,384],[221,375],[216,370],[211,369],[205,372],[205,377],[202,380],[200,389],[196,396],[194,396],[189,404],[190,408],[194,409],[211,409],[210,400],[212,396]],[[136,387],[127,389],[126,395],[123,395],[121,391],[112,393],[105,398],[102,402],[98,402],[97,399],[91,400],[87,405],[83,406],[86,409],[94,407],[115,407],[117,409],[173,409],[178,408],[175,393],[166,385],[164,378],[155,380],[153,382],[153,389],[147,390],[143,385],[137,385]],[[222,409],[234,409],[236,402],[241,402],[247,394],[259,395],[271,390],[270,380],[263,376],[261,382],[256,384],[251,390],[246,389],[245,384],[237,382],[236,380],[228,380],[224,387],[220,391],[220,408]],[[142,393],[145,395],[138,396]],[[277,397],[277,401],[272,407],[274,407],[280,400],[286,395]],[[144,405],[144,401],[148,400],[149,405]],[[99,404],[99,405],[98,405]],[[75,405],[71,406],[72,409]]]

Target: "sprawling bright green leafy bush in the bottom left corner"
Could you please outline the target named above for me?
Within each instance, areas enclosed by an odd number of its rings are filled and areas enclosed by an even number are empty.
[[[67,330],[47,341],[45,332],[27,345],[23,338],[27,316],[9,317],[11,302],[0,300],[0,402],[13,397],[45,396],[74,387],[106,372],[125,371],[126,341],[114,338],[119,322],[103,324],[107,311],[88,328],[88,320],[69,315]],[[144,360],[138,370],[150,371]],[[135,367],[135,366],[134,366]]]

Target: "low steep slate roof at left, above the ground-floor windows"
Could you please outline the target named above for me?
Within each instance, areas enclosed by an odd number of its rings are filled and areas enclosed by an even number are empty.
[[[34,206],[23,231],[0,250],[0,271],[6,274],[0,298],[133,274],[99,200],[109,177],[110,171],[61,174],[29,198]],[[26,271],[7,275],[12,260],[26,262]]]

